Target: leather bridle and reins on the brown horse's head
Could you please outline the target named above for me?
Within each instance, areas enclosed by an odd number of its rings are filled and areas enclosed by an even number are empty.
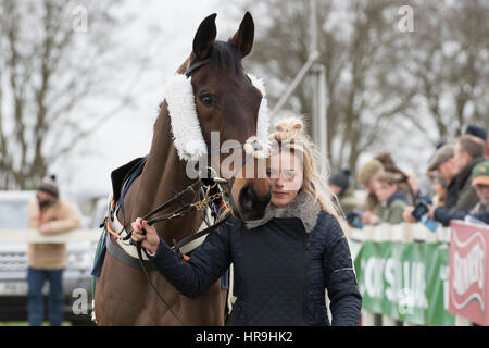
[[[184,74],[188,77],[190,77],[191,73],[195,72],[196,70],[198,70],[199,67],[208,64],[209,62],[211,62],[211,59],[205,59],[202,61],[199,61],[190,66],[188,66],[186,69],[186,71],[184,72]],[[252,137],[253,138],[253,137]],[[206,170],[206,177],[202,177],[200,176],[199,179],[189,185],[187,188],[185,188],[184,190],[177,192],[174,195],[173,198],[171,198],[170,200],[165,201],[164,203],[160,204],[159,207],[156,207],[155,209],[153,209],[152,211],[150,211],[149,213],[147,213],[142,220],[146,220],[148,222],[148,225],[153,225],[155,223],[161,223],[161,222],[167,222],[172,219],[175,217],[180,217],[184,216],[195,210],[200,211],[204,214],[204,221],[208,224],[208,227],[195,233],[179,241],[174,240],[174,246],[171,247],[171,249],[176,252],[177,254],[179,254],[180,257],[185,258],[186,256],[181,253],[180,249],[204,236],[208,235],[209,233],[217,229],[220,226],[222,226],[230,216],[231,213],[229,212],[229,209],[227,207],[226,203],[226,194],[223,190],[222,186],[225,185],[228,191],[227,195],[227,199],[229,200],[229,203],[231,204],[233,208],[233,213],[237,215],[237,217],[239,217],[240,220],[244,220],[238,206],[235,202],[235,199],[233,197],[233,186],[235,184],[236,181],[236,176],[238,175],[238,173],[241,172],[242,167],[244,166],[244,164],[253,157],[256,157],[258,151],[263,151],[262,145],[258,141],[258,139],[254,137],[254,139],[248,139],[244,144],[239,144],[237,146],[233,146],[233,147],[227,147],[226,150],[230,150],[230,149],[244,149],[244,153],[246,157],[241,163],[240,166],[238,166],[237,169],[234,170],[234,174],[229,179],[223,178],[223,177],[218,177],[217,176],[217,172],[212,169],[211,166],[208,166]],[[221,151],[218,149],[218,151]],[[212,151],[211,151],[212,152]],[[211,174],[211,177],[209,177],[208,174]],[[214,176],[212,176],[214,174]],[[184,203],[184,198],[188,195],[191,194],[196,194],[199,190],[203,190],[204,195],[203,195],[203,199],[197,202],[192,202],[192,203]],[[214,194],[211,194],[211,191],[214,190]],[[121,199],[124,199],[124,197],[121,197]],[[214,224],[210,224],[210,222],[206,220],[205,217],[205,210],[206,208],[210,206],[210,203],[213,203],[215,201],[218,201],[218,207],[221,208],[220,210],[223,211],[227,211],[226,215],[222,219],[218,219],[218,213],[215,214],[215,219],[214,219]],[[162,214],[160,216],[150,219],[151,216],[153,216],[154,214],[156,214],[158,212],[161,212],[170,207],[173,207],[175,204],[180,204],[179,208],[177,208],[176,210],[170,212],[170,213],[165,213]],[[122,210],[122,212],[124,213],[124,210]],[[215,212],[215,211],[214,211]],[[218,220],[218,222],[215,222],[216,220]],[[124,221],[124,220],[123,220]],[[124,226],[125,229],[125,226]],[[123,229],[123,231],[124,231]],[[146,232],[143,231],[143,234]],[[133,235],[133,231],[128,232],[127,235],[122,238],[123,240],[127,240],[131,237]],[[110,236],[109,236],[110,238]],[[133,241],[133,239],[130,239],[129,241],[130,244],[135,244]],[[168,311],[178,320],[178,322],[181,325],[185,325],[185,323],[181,321],[181,319],[173,311],[172,306],[170,306],[165,299],[163,298],[163,296],[160,294],[160,291],[156,289],[155,285],[153,284],[153,282],[151,281],[151,277],[148,274],[148,271],[145,268],[143,261],[142,261],[142,247],[141,247],[141,241],[136,243],[136,249],[137,249],[137,254],[138,254],[138,259],[139,259],[139,263],[140,266],[145,273],[146,278],[148,279],[148,282],[150,283],[151,287],[153,288],[156,297],[160,299],[160,301],[165,304],[168,308]]]

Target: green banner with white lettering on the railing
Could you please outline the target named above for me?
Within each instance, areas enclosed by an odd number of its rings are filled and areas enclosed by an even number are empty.
[[[454,325],[443,243],[364,241],[354,258],[363,308],[418,325]]]

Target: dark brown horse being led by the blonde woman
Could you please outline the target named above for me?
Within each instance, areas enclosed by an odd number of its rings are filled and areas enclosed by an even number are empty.
[[[192,42],[192,51],[177,69],[177,75],[187,75],[193,91],[193,104],[205,146],[211,144],[211,133],[220,132],[222,140],[234,139],[239,144],[256,134],[259,109],[264,99],[241,60],[253,46],[254,23],[247,12],[239,29],[228,41],[216,40],[216,14],[205,17],[199,25]],[[136,217],[152,211],[162,201],[172,198],[175,191],[188,187],[195,178],[188,176],[188,162],[181,159],[176,148],[168,102],[160,105],[153,137],[142,172],[134,179],[122,198],[124,212],[116,216],[125,228]],[[128,139],[130,141],[130,138]],[[239,149],[235,149],[235,151]],[[240,151],[244,151],[241,147]],[[209,151],[206,156],[210,156]],[[225,154],[220,153],[222,163]],[[236,202],[233,214],[243,220],[261,219],[271,199],[269,182],[256,175],[236,175],[246,171],[256,159],[231,166],[223,177],[233,177],[226,194]],[[240,163],[241,164],[241,163]],[[234,172],[233,172],[234,171]],[[254,172],[256,174],[256,171]],[[199,192],[192,195],[198,200]],[[202,214],[192,211],[184,219],[173,219],[155,225],[159,236],[167,244],[191,235],[202,224]],[[106,238],[113,238],[110,235]],[[113,239],[111,239],[113,240]],[[158,272],[148,272],[129,266],[106,252],[95,290],[95,313],[98,325],[224,325],[226,291],[216,282],[203,295],[188,298],[180,295]],[[162,303],[150,286],[165,299]]]

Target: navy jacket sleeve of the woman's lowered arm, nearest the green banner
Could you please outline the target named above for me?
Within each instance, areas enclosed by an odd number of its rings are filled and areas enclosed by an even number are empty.
[[[334,326],[356,326],[362,308],[362,296],[356,284],[350,247],[338,221],[326,216],[326,245],[323,270],[330,300]]]

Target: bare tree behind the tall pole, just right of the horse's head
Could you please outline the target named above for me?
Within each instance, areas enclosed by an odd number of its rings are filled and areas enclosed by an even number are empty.
[[[259,10],[266,13],[269,25],[259,35],[251,60],[273,85],[272,103],[308,60],[308,4],[309,1],[260,2],[266,9]],[[389,0],[317,3],[323,28],[319,60],[326,67],[329,101],[327,146],[333,167],[354,170],[360,153],[384,136],[385,122],[410,104],[412,92],[393,73],[402,69],[402,54],[394,50],[399,32],[398,16],[392,13],[398,8]],[[294,112],[311,114],[311,88],[308,83],[298,88],[290,100]]]

